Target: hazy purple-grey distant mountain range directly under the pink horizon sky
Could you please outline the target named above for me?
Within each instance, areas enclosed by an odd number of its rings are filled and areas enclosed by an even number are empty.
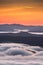
[[[43,26],[24,26],[20,24],[2,24],[0,25],[0,31],[10,31],[13,32],[14,29],[28,29],[30,32],[43,32]]]

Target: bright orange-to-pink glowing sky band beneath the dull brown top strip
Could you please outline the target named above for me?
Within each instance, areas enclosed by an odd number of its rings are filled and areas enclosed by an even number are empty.
[[[43,7],[0,7],[0,24],[43,25]]]

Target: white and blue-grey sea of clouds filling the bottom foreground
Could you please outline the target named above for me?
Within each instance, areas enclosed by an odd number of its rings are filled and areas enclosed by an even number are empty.
[[[23,43],[0,43],[0,65],[43,65],[43,48]]]

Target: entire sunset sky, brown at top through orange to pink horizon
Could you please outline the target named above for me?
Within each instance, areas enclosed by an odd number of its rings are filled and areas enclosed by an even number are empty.
[[[0,0],[0,24],[43,26],[43,0]]]

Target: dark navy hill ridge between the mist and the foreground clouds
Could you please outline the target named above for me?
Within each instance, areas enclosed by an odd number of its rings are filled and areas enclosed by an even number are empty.
[[[35,35],[27,32],[20,33],[0,33],[0,43],[14,42],[24,43],[32,46],[43,47],[43,35]]]

